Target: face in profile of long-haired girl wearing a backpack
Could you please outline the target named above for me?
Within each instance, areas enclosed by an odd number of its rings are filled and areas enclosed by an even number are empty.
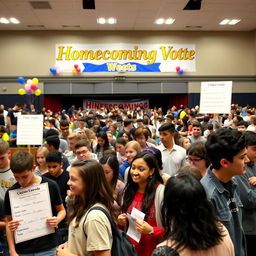
[[[76,196],[84,194],[85,184],[80,176],[78,167],[72,167],[69,173],[68,186],[71,192]]]

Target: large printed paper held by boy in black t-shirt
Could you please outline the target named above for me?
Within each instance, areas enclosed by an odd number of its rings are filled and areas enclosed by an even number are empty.
[[[9,191],[12,219],[20,222],[14,232],[15,243],[54,232],[46,219],[52,217],[48,183]]]

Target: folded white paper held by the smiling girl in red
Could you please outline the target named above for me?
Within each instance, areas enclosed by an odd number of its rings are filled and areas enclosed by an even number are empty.
[[[136,230],[136,220],[144,220],[145,213],[136,208],[132,208],[131,214],[127,213],[127,217],[129,221],[127,235],[138,243],[140,241],[141,234]]]

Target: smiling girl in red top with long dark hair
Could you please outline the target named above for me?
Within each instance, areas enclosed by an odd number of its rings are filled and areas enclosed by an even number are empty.
[[[122,211],[117,218],[119,226],[127,225],[127,213],[133,208],[145,213],[144,221],[136,221],[136,230],[141,233],[139,243],[132,238],[138,256],[150,256],[164,235],[160,219],[160,205],[163,199],[163,180],[159,173],[157,159],[148,152],[139,153],[132,161],[124,191]]]

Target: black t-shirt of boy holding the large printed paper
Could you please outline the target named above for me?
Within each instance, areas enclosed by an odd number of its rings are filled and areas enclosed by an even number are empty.
[[[58,185],[54,181],[42,176],[41,183],[45,183],[45,182],[48,183],[48,187],[49,187],[51,207],[52,207],[52,213],[53,213],[52,216],[56,216],[57,211],[55,206],[62,204],[62,200],[60,197],[60,190],[58,188]],[[20,187],[21,187],[20,184],[17,182],[10,189],[8,189],[7,193],[5,194],[5,199],[4,199],[5,216],[12,215],[9,191],[18,189]],[[25,242],[15,244],[15,250],[18,254],[37,253],[37,252],[50,250],[52,248],[55,248],[57,245],[58,243],[57,243],[56,233],[52,233],[46,236],[34,238]]]

